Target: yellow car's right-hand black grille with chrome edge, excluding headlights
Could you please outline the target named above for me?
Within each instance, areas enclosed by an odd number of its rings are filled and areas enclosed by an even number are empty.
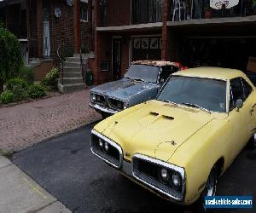
[[[151,161],[152,160],[152,161]],[[155,162],[154,162],[155,161]],[[143,181],[145,185],[152,187],[154,190],[165,194],[167,197],[181,201],[183,199],[184,185],[179,189],[172,187],[170,182],[164,182],[160,178],[160,169],[168,169],[168,172],[177,173],[176,170],[172,170],[164,165],[159,164],[159,160],[154,158],[148,158],[142,155],[135,155],[132,158],[132,171],[133,176],[139,180]]]

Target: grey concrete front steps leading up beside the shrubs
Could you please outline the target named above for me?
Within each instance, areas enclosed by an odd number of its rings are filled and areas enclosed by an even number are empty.
[[[84,55],[84,60],[93,58],[93,55]],[[58,81],[58,89],[61,93],[71,93],[85,89],[86,85],[83,83],[82,68],[80,65],[80,55],[73,55],[73,57],[66,58],[63,68],[63,82]]]

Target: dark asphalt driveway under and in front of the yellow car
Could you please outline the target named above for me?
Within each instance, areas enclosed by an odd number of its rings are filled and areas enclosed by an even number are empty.
[[[15,153],[12,160],[73,212],[196,212],[195,206],[177,206],[149,193],[92,155],[92,126]],[[220,178],[218,194],[256,199],[255,163],[256,150],[245,148]],[[253,210],[222,212],[255,212],[255,199]]]

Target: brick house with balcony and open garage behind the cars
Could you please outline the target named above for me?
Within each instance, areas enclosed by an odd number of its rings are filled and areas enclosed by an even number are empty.
[[[120,78],[132,60],[246,69],[256,55],[255,8],[234,2],[208,17],[210,0],[97,0],[95,83]]]

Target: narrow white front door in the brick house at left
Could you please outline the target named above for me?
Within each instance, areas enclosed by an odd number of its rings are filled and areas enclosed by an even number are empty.
[[[44,9],[44,58],[50,56],[50,41],[49,41],[49,10]]]

